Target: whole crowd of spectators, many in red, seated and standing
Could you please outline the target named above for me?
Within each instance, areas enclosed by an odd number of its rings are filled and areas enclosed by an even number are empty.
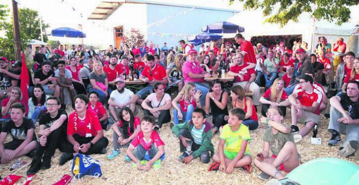
[[[176,48],[144,43],[119,50],[110,45],[105,52],[95,52],[92,46],[86,51],[82,45],[67,51],[67,46],[59,45],[46,54],[41,47],[33,57],[28,106],[21,103],[18,88],[21,62],[9,65],[0,57],[0,162],[32,157],[27,171],[31,175],[50,168],[57,148],[62,152],[59,164],[64,165],[78,153],[106,154],[112,142],[109,160],[120,154],[120,148],[127,148],[125,161],[132,161],[139,170],[157,169],[168,152],[158,132],[170,122],[179,138],[181,162],[199,158],[209,163],[212,159],[208,170],[225,173],[234,168],[251,173],[254,162],[262,171],[260,179],[282,179],[280,171],[290,172],[300,165],[296,143],[312,130],[316,135],[328,102],[328,130],[332,133],[328,144],[338,145],[341,134],[346,134],[338,154],[348,157],[355,153],[359,143],[359,58],[345,51],[342,38],[332,49],[321,37],[315,53],[300,42],[288,49],[283,42],[271,48],[261,43],[253,46],[241,34],[234,39],[239,48],[230,42],[217,48],[211,41],[198,51],[183,40]],[[330,72],[334,66],[327,58],[332,51],[343,54],[336,73]],[[204,80],[223,71],[233,82]],[[145,83],[140,91],[125,88],[128,81],[136,80]],[[337,87],[339,92],[328,99],[323,86]],[[263,95],[260,87],[264,87]],[[175,89],[176,95],[170,89]],[[74,111],[67,113],[66,104],[72,104]],[[260,111],[258,105],[262,105]],[[283,123],[287,109],[291,125]],[[144,116],[136,114],[140,111]],[[304,126],[299,129],[298,123]],[[268,128],[263,151],[253,155],[250,133],[259,124]],[[109,141],[104,130],[110,129],[113,137]],[[219,144],[214,153],[211,140],[217,133]],[[7,134],[13,140],[4,143]]]

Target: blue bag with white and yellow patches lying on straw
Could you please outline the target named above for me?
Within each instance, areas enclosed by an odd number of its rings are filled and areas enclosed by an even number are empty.
[[[102,176],[100,162],[84,154],[74,156],[71,171],[76,179],[80,179],[84,176]]]

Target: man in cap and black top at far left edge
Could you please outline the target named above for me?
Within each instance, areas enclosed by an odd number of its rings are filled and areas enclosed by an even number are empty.
[[[8,74],[13,74],[12,70],[8,69],[8,61],[5,57],[0,57],[0,99],[6,97],[6,94],[12,88],[17,86],[17,80],[11,78]]]

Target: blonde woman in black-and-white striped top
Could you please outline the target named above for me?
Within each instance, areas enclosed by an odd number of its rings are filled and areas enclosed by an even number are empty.
[[[90,84],[87,87],[87,91],[97,92],[101,103],[105,104],[108,96],[108,79],[100,61],[94,63],[94,70],[90,73]]]

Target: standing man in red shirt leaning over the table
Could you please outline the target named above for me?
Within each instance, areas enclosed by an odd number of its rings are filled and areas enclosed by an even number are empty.
[[[237,33],[234,37],[234,40],[240,44],[241,53],[244,56],[243,60],[245,63],[257,63],[255,58],[255,52],[252,44],[245,40],[242,34]]]

